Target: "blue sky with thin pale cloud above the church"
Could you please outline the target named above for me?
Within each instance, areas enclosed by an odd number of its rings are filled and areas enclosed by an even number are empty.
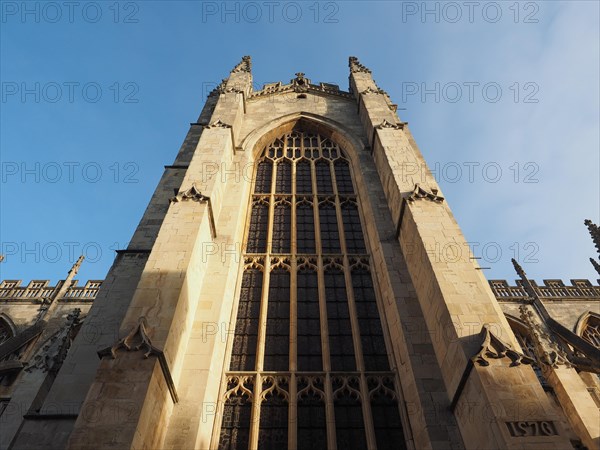
[[[598,276],[598,2],[0,2],[0,279],[104,278],[196,120],[255,88],[373,71],[490,279]],[[71,9],[70,9],[71,8]]]

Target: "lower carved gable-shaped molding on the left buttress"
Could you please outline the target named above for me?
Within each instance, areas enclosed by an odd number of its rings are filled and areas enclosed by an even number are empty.
[[[124,348],[127,351],[145,351],[144,358],[156,356],[160,363],[160,368],[162,369],[169,392],[171,393],[173,403],[177,403],[179,401],[179,397],[177,396],[175,383],[171,377],[171,371],[169,370],[167,359],[165,358],[165,354],[161,349],[152,345],[152,341],[150,340],[148,332],[146,331],[147,326],[148,324],[146,322],[146,318],[144,316],[140,317],[137,325],[129,332],[127,336],[119,339],[110,347],[98,350],[98,357],[102,359],[105,356],[110,356],[112,359],[116,359],[117,351],[121,348]]]

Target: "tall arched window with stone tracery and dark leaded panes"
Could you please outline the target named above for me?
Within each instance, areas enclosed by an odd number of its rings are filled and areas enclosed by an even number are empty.
[[[220,449],[401,449],[350,162],[294,130],[258,159]]]

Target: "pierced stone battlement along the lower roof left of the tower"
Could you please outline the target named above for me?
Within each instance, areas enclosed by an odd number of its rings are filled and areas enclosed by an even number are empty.
[[[91,302],[98,295],[104,280],[88,280],[85,285],[78,286],[78,280],[71,281],[59,301]],[[49,280],[31,280],[26,286],[21,286],[22,280],[3,280],[0,282],[0,302],[32,302],[41,303],[53,299],[59,294],[65,280],[60,280],[55,286]]]

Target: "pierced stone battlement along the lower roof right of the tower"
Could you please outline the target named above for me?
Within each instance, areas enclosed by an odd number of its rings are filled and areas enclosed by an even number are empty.
[[[529,298],[523,282],[515,280],[516,286],[509,286],[506,280],[490,280],[490,286],[498,301],[522,301]],[[562,280],[543,280],[539,286],[530,280],[536,294],[543,300],[600,300],[600,286],[593,285],[589,280],[570,280],[566,286]]]

